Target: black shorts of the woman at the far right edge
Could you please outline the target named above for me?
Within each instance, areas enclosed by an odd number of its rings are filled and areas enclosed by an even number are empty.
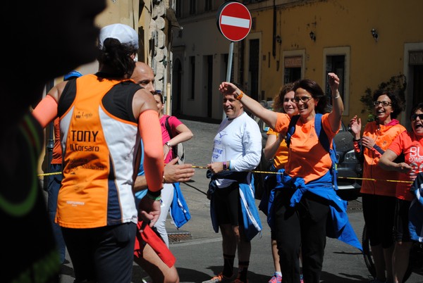
[[[397,199],[395,218],[393,225],[393,237],[396,241],[411,241],[410,229],[408,229],[408,210],[411,201]]]

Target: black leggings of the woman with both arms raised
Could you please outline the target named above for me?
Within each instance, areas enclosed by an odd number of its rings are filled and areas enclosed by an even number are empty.
[[[326,246],[329,205],[306,192],[295,207],[289,206],[293,191],[283,189],[275,200],[275,234],[283,282],[300,282],[300,252],[305,282],[320,281]]]

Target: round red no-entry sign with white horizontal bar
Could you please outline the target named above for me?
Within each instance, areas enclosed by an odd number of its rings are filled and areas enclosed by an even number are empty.
[[[231,42],[239,42],[251,30],[251,14],[247,7],[237,1],[221,5],[218,14],[218,27],[224,37]]]

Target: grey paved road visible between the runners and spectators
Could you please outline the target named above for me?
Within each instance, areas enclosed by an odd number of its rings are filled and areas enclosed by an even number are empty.
[[[194,133],[194,138],[185,142],[185,155],[188,163],[204,167],[210,160],[214,134],[219,125],[207,122],[182,120]],[[192,182],[181,184],[185,199],[190,207],[191,220],[179,231],[168,218],[168,232],[173,233],[170,249],[175,254],[176,266],[181,283],[202,282],[219,273],[223,267],[221,251],[221,236],[212,229],[209,217],[209,201],[206,198],[209,180],[205,177],[206,170],[195,169]],[[257,201],[258,205],[258,201]],[[361,199],[350,201],[348,207],[350,222],[357,237],[361,239],[363,219]],[[264,214],[260,213],[263,231],[262,237],[252,240],[252,255],[250,258],[250,283],[266,283],[274,272],[270,249],[270,229],[266,225]],[[235,265],[238,262],[235,259]],[[134,265],[133,282],[140,283],[147,274]],[[63,283],[73,282],[71,263],[63,267]],[[353,283],[368,282],[372,279],[364,264],[359,250],[335,239],[327,239],[323,272],[323,283]],[[422,276],[413,275],[407,282],[423,282]]]

